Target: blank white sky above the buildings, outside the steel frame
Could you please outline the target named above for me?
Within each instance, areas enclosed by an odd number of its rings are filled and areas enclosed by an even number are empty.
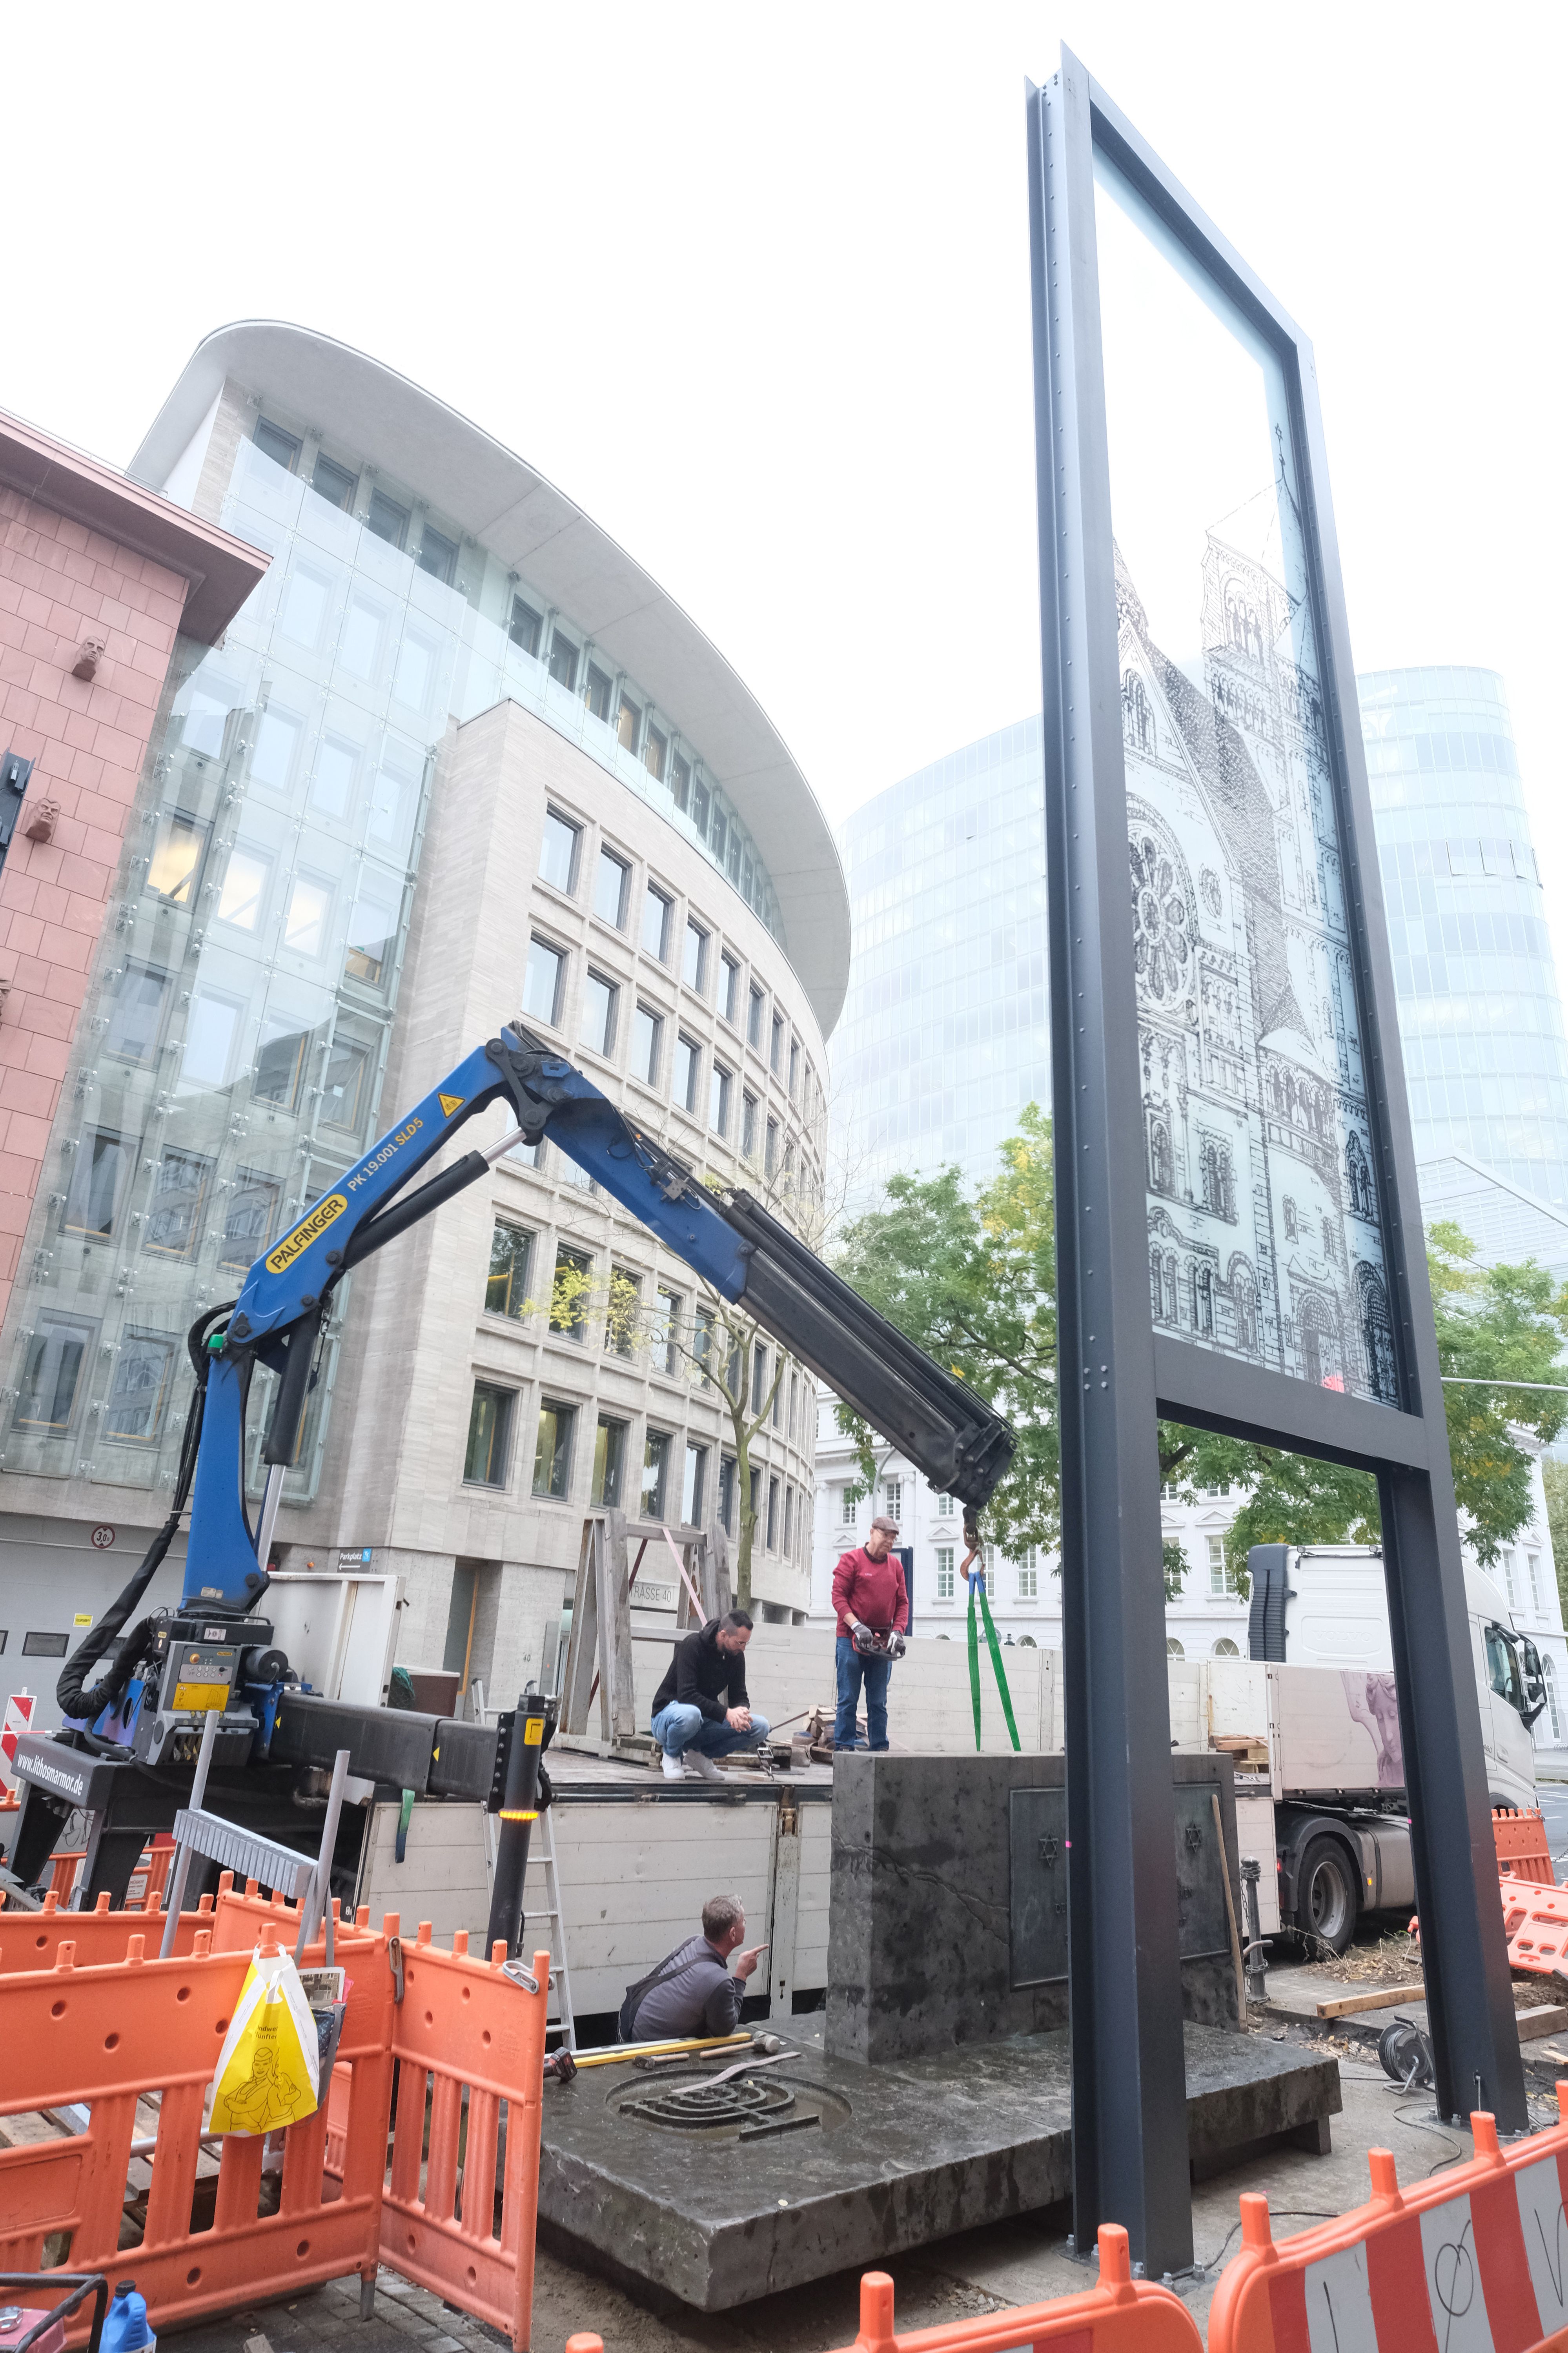
[[[1064,38],[1316,341],[1358,668],[1504,673],[1568,972],[1561,5],[14,9],[0,405],[125,461],[224,320],[358,344],[638,555],[838,819],[1038,708]]]

